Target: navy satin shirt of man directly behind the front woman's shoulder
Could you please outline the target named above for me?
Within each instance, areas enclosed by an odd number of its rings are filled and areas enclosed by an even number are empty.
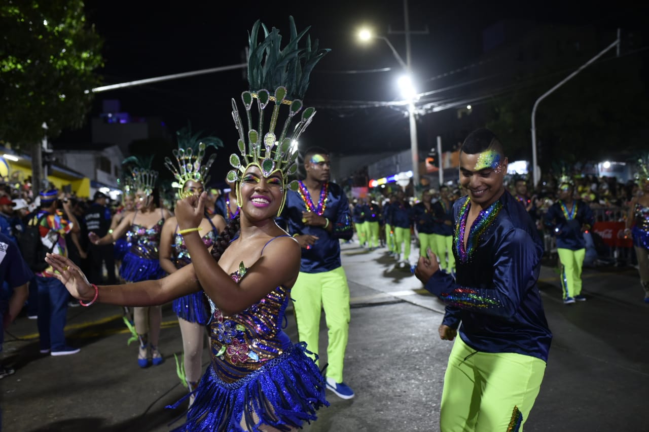
[[[313,204],[317,207],[318,203],[316,201]],[[282,219],[286,221],[289,234],[310,234],[318,237],[310,249],[302,248],[300,272],[321,273],[336,270],[341,266],[339,240],[349,240],[354,234],[349,200],[345,191],[337,184],[329,182],[323,216],[334,225],[331,232],[322,226],[302,223],[302,211],[306,211],[302,197],[299,193],[289,190],[286,194],[286,207],[282,212]]]

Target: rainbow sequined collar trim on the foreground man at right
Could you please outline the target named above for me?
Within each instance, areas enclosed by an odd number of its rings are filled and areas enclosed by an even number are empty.
[[[485,233],[487,228],[496,220],[498,213],[502,210],[502,202],[496,200],[491,206],[485,210],[480,211],[478,217],[471,225],[469,230],[469,237],[467,238],[467,247],[464,247],[464,234],[467,228],[467,219],[469,218],[469,209],[471,208],[471,198],[462,204],[459,209],[458,222],[456,222],[455,230],[453,233],[453,242],[455,245],[456,256],[462,263],[466,263],[473,256],[480,238]]]

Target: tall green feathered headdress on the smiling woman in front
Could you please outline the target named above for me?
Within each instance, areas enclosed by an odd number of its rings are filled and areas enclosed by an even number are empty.
[[[234,169],[227,174],[229,182],[236,182],[237,198],[241,202],[241,174],[248,167],[256,165],[265,177],[281,171],[284,198],[280,211],[286,199],[288,178],[297,171],[297,141],[315,115],[313,107],[302,110],[309,75],[315,64],[330,51],[318,49],[317,40],[311,44],[310,36],[306,34],[309,27],[298,34],[293,17],[289,17],[289,24],[291,38],[284,49],[281,48],[282,36],[278,29],[273,27],[269,32],[260,21],[252,26],[249,34],[249,90],[241,93],[247,122],[241,121],[233,98],[232,118],[239,132],[237,144],[240,154],[230,156],[230,165]],[[262,42],[259,42],[260,29],[264,35]],[[306,43],[299,47],[302,38]],[[267,121],[265,112],[269,117]],[[252,117],[256,117],[255,123]],[[281,128],[278,125],[282,125]],[[297,190],[297,182],[291,182],[288,187]]]

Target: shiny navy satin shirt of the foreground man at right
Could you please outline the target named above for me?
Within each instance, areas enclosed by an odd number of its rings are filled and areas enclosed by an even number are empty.
[[[552,333],[537,287],[543,243],[532,218],[505,191],[499,198],[501,210],[477,237],[469,236],[467,245],[474,247],[465,254],[457,242],[466,200],[459,198],[453,206],[457,279],[437,271],[425,285],[448,305],[443,324],[458,328],[461,322],[459,337],[474,350],[547,361]]]

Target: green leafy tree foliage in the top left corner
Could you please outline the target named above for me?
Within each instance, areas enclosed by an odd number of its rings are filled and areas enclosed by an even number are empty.
[[[78,128],[101,82],[103,41],[80,0],[6,0],[0,5],[0,139],[30,147]]]

